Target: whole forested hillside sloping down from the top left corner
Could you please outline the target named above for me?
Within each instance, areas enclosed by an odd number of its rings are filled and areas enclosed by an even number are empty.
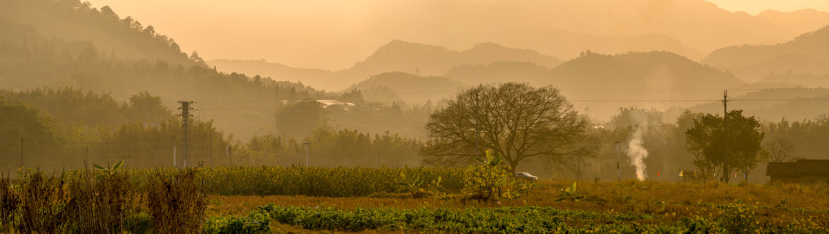
[[[134,20],[119,20],[106,9],[68,0],[0,2],[0,88],[74,87],[119,101],[147,91],[170,110],[177,109],[179,100],[201,101],[199,107],[208,110],[196,114],[214,119],[240,139],[267,133],[263,126],[273,123],[270,114],[282,100],[330,98],[298,82],[200,66],[200,58],[187,57],[151,27],[115,24]],[[234,102],[224,102],[228,100]]]

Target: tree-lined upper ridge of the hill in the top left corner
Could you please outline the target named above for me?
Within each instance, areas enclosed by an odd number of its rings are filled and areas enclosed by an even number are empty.
[[[119,17],[109,7],[90,7],[90,2],[3,0],[0,1],[0,16],[7,22],[32,27],[46,38],[90,41],[99,51],[114,56],[162,60],[184,66],[204,65],[197,54],[188,56],[176,41],[155,32],[153,26],[145,27],[132,17]],[[7,34],[17,33],[7,30],[3,28],[0,34],[7,37]]]

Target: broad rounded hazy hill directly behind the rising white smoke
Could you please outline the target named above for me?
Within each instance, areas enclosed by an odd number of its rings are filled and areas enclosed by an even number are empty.
[[[549,74],[545,84],[557,86],[577,108],[589,108],[598,119],[615,115],[620,107],[667,110],[690,106],[695,104],[690,100],[716,99],[718,92],[722,96],[721,90],[744,84],[729,72],[666,51],[613,56],[587,52]]]

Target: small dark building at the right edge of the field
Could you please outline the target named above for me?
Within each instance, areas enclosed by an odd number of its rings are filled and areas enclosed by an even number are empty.
[[[771,182],[829,183],[829,160],[798,159],[789,163],[768,163],[766,175]]]

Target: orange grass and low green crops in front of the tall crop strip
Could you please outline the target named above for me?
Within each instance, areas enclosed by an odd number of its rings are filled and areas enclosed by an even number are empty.
[[[526,197],[465,204],[453,194],[210,196],[207,213],[337,232],[829,232],[825,185],[579,182],[584,200],[555,202],[572,181],[536,183]]]

